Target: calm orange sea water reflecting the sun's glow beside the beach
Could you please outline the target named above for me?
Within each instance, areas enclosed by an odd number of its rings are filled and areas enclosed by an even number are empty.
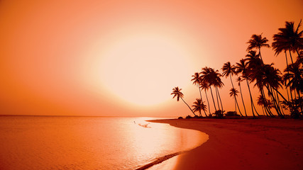
[[[136,169],[207,140],[152,119],[0,116],[0,169]]]

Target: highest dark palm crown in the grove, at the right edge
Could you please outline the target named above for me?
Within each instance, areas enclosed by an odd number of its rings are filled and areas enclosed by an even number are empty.
[[[299,31],[301,21],[296,29],[294,29],[294,22],[286,21],[285,28],[279,28],[278,30],[280,30],[280,32],[273,35],[274,42],[272,42],[272,48],[275,50],[276,55],[282,52],[282,50],[288,50],[290,52],[291,60],[291,52],[297,52],[297,55],[301,58],[298,51],[303,49],[303,31]],[[292,63],[294,63],[293,60]]]

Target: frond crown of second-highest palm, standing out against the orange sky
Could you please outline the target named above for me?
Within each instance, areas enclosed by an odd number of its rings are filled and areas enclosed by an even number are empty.
[[[268,42],[267,38],[262,38],[262,34],[260,35],[251,35],[250,40],[248,40],[248,47],[247,47],[247,51],[249,50],[253,50],[254,48],[257,48],[259,50],[259,55],[261,57],[261,47],[270,47],[269,44],[267,44],[266,42]],[[263,62],[263,59],[261,57],[261,60]]]

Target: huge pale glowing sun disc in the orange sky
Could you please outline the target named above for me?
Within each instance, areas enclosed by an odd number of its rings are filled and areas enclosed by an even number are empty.
[[[187,53],[181,45],[159,35],[134,35],[103,53],[101,80],[106,89],[141,106],[171,98],[174,86],[190,78]]]

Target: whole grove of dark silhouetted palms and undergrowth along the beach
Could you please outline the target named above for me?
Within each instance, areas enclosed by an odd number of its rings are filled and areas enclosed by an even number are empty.
[[[244,81],[248,89],[253,118],[261,116],[256,109],[255,102],[262,107],[263,116],[285,118],[285,115],[288,114],[292,118],[303,118],[303,30],[300,30],[301,23],[302,20],[295,26],[294,22],[286,21],[285,27],[278,28],[278,33],[272,37],[271,47],[275,55],[279,55],[281,52],[285,53],[286,68],[284,72],[277,69],[274,63],[264,62],[266,56],[261,55],[261,48],[270,48],[270,44],[263,33],[251,35],[248,42],[246,42],[248,44],[247,55],[236,64],[224,63],[221,67],[222,73],[211,67],[203,67],[202,72],[195,72],[192,75],[192,84],[198,86],[200,98],[194,101],[193,109],[187,105],[192,113],[199,112],[199,116],[202,117],[201,112],[204,111],[206,117],[212,118],[224,118],[224,115],[233,116],[238,115],[237,113],[240,113],[239,116],[247,117],[248,111],[246,111],[246,103],[241,89],[241,82]],[[289,56],[287,56],[287,53]],[[233,85],[233,76],[237,76],[236,81],[240,91]],[[225,114],[219,93],[219,89],[224,87],[221,77],[229,77],[231,80],[232,89],[230,89],[229,95],[235,100],[235,111],[228,111]],[[173,98],[177,96],[177,101],[179,101],[179,98],[184,101],[183,94],[180,93],[181,89],[176,88],[173,89]],[[251,88],[257,88],[259,94],[255,96]],[[207,106],[202,100],[203,90]],[[214,113],[211,113],[211,105],[206,91],[210,91]],[[241,94],[245,114],[242,114],[239,107],[238,93]],[[283,94],[287,94],[287,97]],[[207,110],[209,111],[208,115],[206,114]]]

